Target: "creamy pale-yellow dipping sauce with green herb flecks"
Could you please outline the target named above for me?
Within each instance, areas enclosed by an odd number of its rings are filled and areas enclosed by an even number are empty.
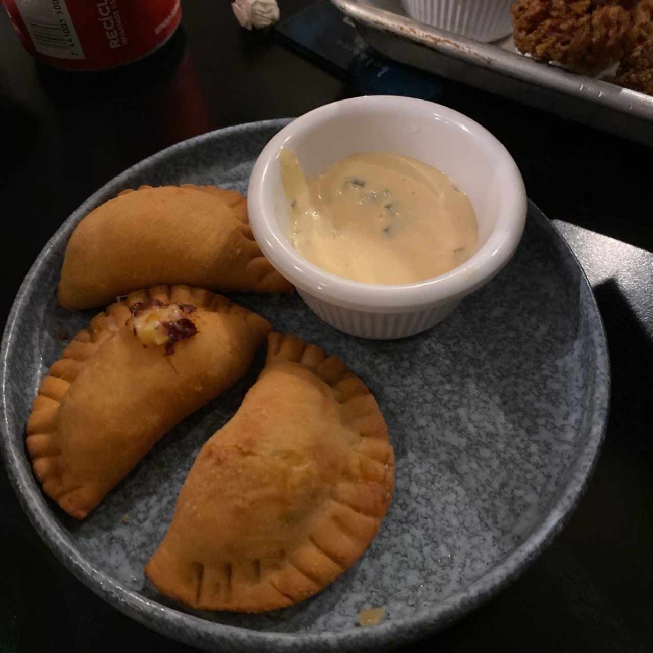
[[[279,151],[295,249],[315,265],[363,283],[414,283],[453,270],[476,250],[467,196],[439,170],[387,152],[336,161],[307,178]]]

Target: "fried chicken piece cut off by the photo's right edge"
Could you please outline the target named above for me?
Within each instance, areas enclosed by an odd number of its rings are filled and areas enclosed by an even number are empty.
[[[619,64],[614,83],[653,95],[653,0],[640,0],[632,15],[626,35],[627,54]]]

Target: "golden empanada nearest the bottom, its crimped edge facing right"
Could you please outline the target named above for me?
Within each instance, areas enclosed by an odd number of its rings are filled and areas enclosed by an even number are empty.
[[[394,453],[372,394],[338,358],[268,336],[268,360],[210,438],[145,568],[197,609],[262,612],[319,592],[374,538]]]

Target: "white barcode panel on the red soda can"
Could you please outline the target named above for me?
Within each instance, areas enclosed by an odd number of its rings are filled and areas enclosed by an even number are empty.
[[[85,59],[66,0],[16,0],[34,48],[59,59]]]

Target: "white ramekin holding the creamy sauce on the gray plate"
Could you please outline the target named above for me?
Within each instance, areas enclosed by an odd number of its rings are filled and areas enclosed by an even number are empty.
[[[458,268],[404,285],[358,283],[330,274],[291,244],[279,148],[293,150],[317,175],[360,151],[419,159],[449,176],[474,208],[479,249]],[[440,104],[376,95],[321,106],[270,140],[249,179],[249,221],[270,263],[325,322],[363,338],[402,338],[432,327],[509,261],[524,230],[526,193],[515,161],[478,123]]]

